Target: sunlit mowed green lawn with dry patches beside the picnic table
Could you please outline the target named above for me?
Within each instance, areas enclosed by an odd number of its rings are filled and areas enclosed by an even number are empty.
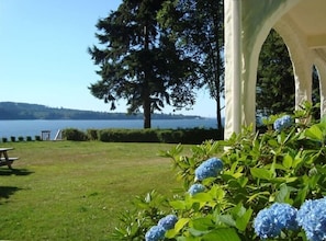
[[[20,157],[0,168],[0,240],[112,240],[135,195],[181,187],[159,150],[176,145],[7,142]]]

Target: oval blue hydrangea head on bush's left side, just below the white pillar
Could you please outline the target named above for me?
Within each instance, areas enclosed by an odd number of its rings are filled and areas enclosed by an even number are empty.
[[[201,163],[194,171],[195,180],[215,177],[223,170],[223,162],[218,158],[211,158]]]

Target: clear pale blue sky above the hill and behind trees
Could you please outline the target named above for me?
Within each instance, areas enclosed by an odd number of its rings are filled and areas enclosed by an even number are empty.
[[[0,0],[0,102],[109,112],[88,90],[100,77],[87,48],[98,44],[98,20],[121,2]],[[124,101],[115,112],[126,112]],[[215,102],[202,91],[192,111],[176,114],[215,117]]]

